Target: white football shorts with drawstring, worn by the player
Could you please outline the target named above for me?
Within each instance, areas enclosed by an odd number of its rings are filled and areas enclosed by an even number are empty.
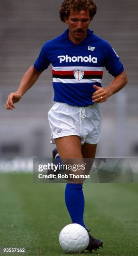
[[[48,112],[48,120],[52,144],[55,144],[55,138],[70,135],[78,135],[82,145],[85,142],[96,144],[100,139],[101,115],[98,103],[76,107],[56,102]]]

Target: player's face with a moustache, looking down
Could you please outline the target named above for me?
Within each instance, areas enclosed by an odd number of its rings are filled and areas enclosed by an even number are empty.
[[[65,23],[68,24],[69,38],[73,43],[79,44],[87,36],[90,21],[89,10],[70,11],[68,19],[65,18]]]

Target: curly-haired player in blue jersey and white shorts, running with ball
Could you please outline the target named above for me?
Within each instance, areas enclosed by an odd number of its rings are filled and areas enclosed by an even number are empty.
[[[48,112],[51,143],[56,143],[62,159],[94,158],[100,138],[100,103],[121,90],[127,83],[123,64],[108,42],[88,29],[96,14],[93,0],[64,0],[60,19],[68,29],[46,42],[35,64],[28,69],[17,92],[8,96],[5,107],[15,108],[25,92],[52,63],[55,104]],[[113,81],[101,85],[105,67]],[[68,183],[65,203],[73,223],[83,222],[83,184]],[[86,228],[86,227],[85,227]],[[103,242],[90,235],[88,251],[103,247]]]

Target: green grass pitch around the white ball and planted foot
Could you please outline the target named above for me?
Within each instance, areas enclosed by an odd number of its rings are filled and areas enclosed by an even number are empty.
[[[71,223],[64,189],[65,184],[34,184],[33,174],[1,173],[0,247],[67,256],[58,242],[60,230]],[[92,255],[138,256],[138,184],[84,184],[83,191],[85,224],[104,241]]]

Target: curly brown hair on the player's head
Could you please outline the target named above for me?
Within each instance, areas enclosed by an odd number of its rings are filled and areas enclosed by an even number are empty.
[[[64,18],[69,17],[70,10],[80,11],[80,10],[89,10],[90,11],[90,20],[93,19],[97,11],[97,6],[93,0],[64,0],[61,5],[60,20],[65,22]]]

